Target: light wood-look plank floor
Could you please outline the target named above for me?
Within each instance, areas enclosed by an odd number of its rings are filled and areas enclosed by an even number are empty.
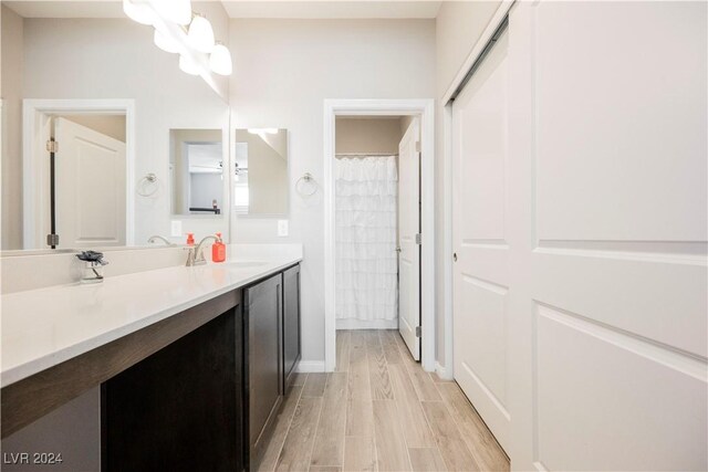
[[[457,384],[425,373],[397,332],[337,332],[336,348],[336,371],[295,379],[258,470],[509,470]]]

